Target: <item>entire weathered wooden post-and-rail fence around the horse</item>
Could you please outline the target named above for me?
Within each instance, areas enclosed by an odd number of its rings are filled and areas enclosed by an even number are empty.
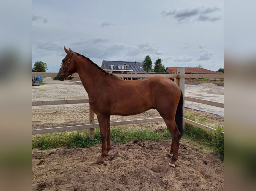
[[[56,76],[57,73],[40,73],[40,77],[52,77]],[[180,87],[181,91],[184,95],[184,78],[224,78],[224,74],[184,74],[184,68],[177,68],[177,74],[114,74],[120,78],[148,78],[153,76],[162,76],[166,78],[174,78],[174,82]],[[38,73],[32,73],[32,77],[38,76]],[[77,73],[73,74],[73,77],[79,77]],[[224,108],[224,103],[207,101],[203,99],[197,99],[192,97],[184,96],[184,100],[193,101],[197,103],[203,103],[207,105],[212,105],[216,107]],[[78,104],[78,103],[89,103],[89,99],[72,99],[72,100],[52,100],[52,101],[32,101],[32,106],[39,105],[58,105],[58,104]],[[184,111],[184,108],[183,108]],[[216,129],[211,128],[209,126],[197,123],[195,121],[189,120],[183,117],[184,122],[189,123],[191,125],[197,126],[199,128],[205,129],[207,131],[215,132]],[[135,119],[135,120],[127,120],[127,121],[115,121],[110,122],[110,126],[118,126],[118,125],[128,125],[128,124],[136,124],[136,123],[149,123],[163,121],[162,117],[157,118],[146,118],[146,119]],[[94,113],[90,107],[90,124],[85,125],[75,125],[75,126],[66,126],[66,127],[54,127],[54,128],[45,128],[45,129],[33,129],[32,135],[35,134],[44,134],[44,133],[54,133],[54,132],[62,132],[62,131],[71,131],[71,130],[81,130],[81,129],[90,129],[90,137],[93,138],[94,128],[98,128],[99,123],[94,123]],[[224,132],[222,132],[224,136]]]

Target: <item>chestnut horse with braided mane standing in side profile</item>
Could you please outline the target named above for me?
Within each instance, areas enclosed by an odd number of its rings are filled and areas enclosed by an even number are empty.
[[[97,164],[109,155],[110,116],[136,115],[156,109],[171,133],[171,158],[169,165],[175,167],[178,159],[179,140],[183,132],[183,95],[179,87],[164,77],[139,80],[123,80],[101,69],[89,58],[64,47],[67,53],[62,60],[57,79],[63,81],[77,72],[88,93],[89,104],[96,113],[101,134],[102,152]]]

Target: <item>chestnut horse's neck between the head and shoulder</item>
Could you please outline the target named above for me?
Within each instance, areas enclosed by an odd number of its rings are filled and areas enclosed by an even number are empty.
[[[76,67],[86,92],[89,96],[92,95],[96,92],[98,86],[103,83],[106,74],[86,58],[76,63]]]

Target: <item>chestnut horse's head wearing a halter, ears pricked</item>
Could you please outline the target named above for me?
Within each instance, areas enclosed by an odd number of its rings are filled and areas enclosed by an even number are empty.
[[[70,48],[69,50],[64,47],[67,56],[62,60],[61,68],[59,69],[59,73],[57,74],[57,79],[63,81],[69,75],[72,75],[76,72],[76,66],[74,62],[71,62],[71,57],[73,52]]]

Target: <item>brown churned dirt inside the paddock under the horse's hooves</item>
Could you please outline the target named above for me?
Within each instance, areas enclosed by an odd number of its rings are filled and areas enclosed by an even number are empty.
[[[169,142],[112,143],[101,165],[101,146],[32,150],[32,190],[224,190],[224,167],[210,151],[181,141],[176,168]]]

